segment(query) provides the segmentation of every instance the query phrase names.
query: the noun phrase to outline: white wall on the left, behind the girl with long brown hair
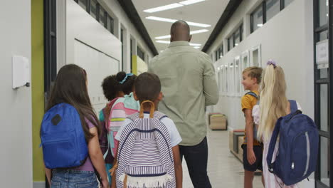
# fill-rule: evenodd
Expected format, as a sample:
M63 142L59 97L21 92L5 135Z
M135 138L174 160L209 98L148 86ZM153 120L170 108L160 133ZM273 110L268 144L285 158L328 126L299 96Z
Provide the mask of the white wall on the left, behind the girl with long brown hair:
M87 71L88 93L96 112L107 103L102 80L121 69L121 42L73 0L66 1L66 64Z

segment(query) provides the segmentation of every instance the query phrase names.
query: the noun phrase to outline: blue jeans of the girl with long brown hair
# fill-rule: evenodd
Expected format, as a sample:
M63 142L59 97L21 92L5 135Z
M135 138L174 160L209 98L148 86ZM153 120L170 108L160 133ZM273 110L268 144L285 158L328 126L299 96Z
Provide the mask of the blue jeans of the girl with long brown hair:
M53 169L51 188L98 188L95 172L76 169Z

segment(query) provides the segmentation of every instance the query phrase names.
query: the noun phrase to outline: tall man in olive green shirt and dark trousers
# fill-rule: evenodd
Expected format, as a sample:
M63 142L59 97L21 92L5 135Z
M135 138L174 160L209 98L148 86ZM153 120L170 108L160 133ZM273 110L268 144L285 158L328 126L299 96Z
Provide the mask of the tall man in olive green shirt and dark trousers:
M181 159L184 156L194 187L209 188L205 107L218 103L218 87L211 58L189 45L189 32L185 21L173 23L169 47L152 59L148 71L161 80L159 111L179 130Z

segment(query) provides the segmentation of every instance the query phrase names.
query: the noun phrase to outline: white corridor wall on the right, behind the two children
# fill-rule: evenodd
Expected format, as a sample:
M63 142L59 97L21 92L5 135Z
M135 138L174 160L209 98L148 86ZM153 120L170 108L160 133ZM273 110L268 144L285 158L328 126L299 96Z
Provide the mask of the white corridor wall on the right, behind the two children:
M214 53L221 46L224 38L228 38L233 30L244 19L248 24L249 16L258 5L258 1L243 1L230 21L226 24L208 53ZM287 96L297 100L305 114L314 117L314 71L313 71L313 14L312 1L294 0L292 4L280 11L266 22L262 28L253 33L245 32L245 39L214 65L217 68L234 61L243 51L261 45L261 59L265 63L269 59L277 61L285 71L287 80ZM249 25L248 25L249 26ZM244 28L246 30L246 28ZM226 48L227 43L224 43ZM245 127L244 115L240 109L240 97L220 96L215 111L228 115L231 128Z

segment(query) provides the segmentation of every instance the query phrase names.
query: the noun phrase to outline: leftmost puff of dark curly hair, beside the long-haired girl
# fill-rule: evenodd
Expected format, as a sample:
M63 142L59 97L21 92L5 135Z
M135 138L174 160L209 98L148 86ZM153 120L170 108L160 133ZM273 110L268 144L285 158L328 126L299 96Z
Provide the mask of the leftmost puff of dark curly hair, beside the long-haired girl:
M122 85L117 80L116 75L109 75L104 78L102 88L105 98L110 101L116 98L117 93L122 90Z

